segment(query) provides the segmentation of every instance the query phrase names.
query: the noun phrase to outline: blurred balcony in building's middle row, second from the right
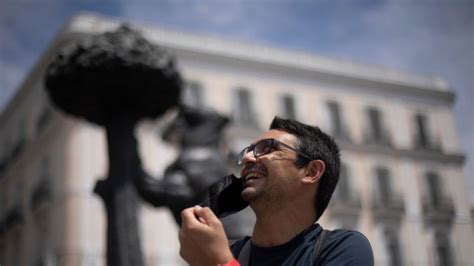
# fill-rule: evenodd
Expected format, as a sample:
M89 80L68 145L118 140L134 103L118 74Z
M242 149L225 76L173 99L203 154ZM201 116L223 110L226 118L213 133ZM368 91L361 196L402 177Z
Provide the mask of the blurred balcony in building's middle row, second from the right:
M375 197L372 201L372 212L376 220L399 222L405 213L405 204L399 194Z

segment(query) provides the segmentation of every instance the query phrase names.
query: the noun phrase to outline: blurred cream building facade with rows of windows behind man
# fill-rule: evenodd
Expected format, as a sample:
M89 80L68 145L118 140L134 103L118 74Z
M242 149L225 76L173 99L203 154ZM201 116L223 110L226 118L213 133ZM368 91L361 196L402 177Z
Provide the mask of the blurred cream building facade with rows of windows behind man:
M105 212L92 193L107 171L104 130L56 111L43 75L60 47L119 24L92 14L72 18L0 116L1 265L105 263ZM222 147L230 162L275 115L333 135L343 167L320 223L363 232L376 265L474 265L465 156L445 81L135 27L177 57L183 101L232 119ZM179 152L160 138L166 119L136 129L143 166L156 177ZM143 204L139 213L146 264L183 264L169 211Z

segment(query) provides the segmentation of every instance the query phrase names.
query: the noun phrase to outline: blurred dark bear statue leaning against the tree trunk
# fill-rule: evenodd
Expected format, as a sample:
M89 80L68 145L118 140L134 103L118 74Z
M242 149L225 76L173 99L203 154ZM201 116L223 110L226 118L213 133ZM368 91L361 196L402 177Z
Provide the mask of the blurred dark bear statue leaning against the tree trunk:
M163 133L165 140L179 144L180 153L161 178L153 178L144 172L136 176L135 185L142 198L155 207L169 208L178 224L181 224L184 208L215 202L217 198L209 199L212 197L210 186L220 183L229 173L226 157L219 147L228 121L227 117L209 108L181 106ZM240 179L236 183L234 193L224 193L220 198L223 201L220 203L235 212L248 205L241 198ZM214 211L221 217L219 211ZM250 233L248 220L245 213L223 219L227 236L239 239Z

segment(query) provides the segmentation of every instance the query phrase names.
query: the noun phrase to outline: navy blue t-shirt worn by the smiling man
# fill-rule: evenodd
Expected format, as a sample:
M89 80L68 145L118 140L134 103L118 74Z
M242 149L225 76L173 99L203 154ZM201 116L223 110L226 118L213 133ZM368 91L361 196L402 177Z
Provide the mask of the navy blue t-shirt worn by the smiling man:
M321 232L322 227L313 224L283 245L258 247L252 243L249 265L314 265L314 248ZM249 240L250 237L245 237L230 247L235 258ZM372 248L357 231L334 230L321 246L320 265L374 265Z

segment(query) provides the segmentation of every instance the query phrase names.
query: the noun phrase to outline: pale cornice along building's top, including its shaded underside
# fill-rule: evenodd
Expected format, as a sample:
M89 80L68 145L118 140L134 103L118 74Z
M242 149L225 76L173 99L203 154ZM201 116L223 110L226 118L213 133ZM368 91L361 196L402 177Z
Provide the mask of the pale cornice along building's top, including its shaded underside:
M101 33L115 29L122 21L92 13L73 17L66 33ZM177 32L156 26L137 25L151 42L178 56L224 60L226 64L260 67L272 72L338 83L351 87L408 93L452 104L455 95L445 80L437 76L416 75L381 66L367 65L316 56L304 52L263 45L222 40L215 37Z

